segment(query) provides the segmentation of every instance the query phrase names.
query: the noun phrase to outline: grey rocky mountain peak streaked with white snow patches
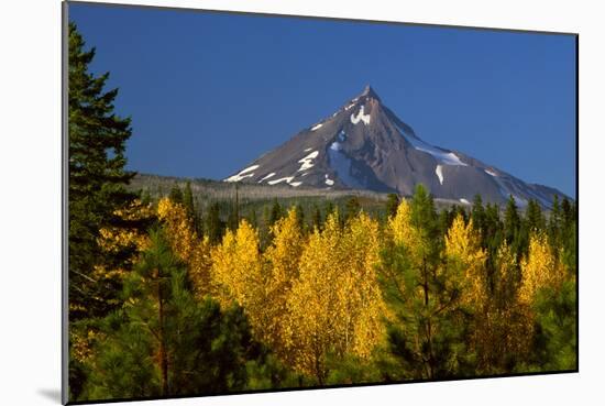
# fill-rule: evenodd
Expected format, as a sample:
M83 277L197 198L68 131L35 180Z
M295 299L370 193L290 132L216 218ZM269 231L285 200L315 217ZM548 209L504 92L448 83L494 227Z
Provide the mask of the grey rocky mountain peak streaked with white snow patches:
M292 187L351 188L409 196L424 184L436 198L550 207L561 191L527 184L458 151L422 141L367 86L332 116L300 131L224 179Z

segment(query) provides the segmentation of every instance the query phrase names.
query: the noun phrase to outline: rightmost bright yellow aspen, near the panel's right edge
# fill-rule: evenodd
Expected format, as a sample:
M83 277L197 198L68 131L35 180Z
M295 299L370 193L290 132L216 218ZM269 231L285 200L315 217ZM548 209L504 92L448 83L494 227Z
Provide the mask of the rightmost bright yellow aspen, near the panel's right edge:
M564 275L563 265L552 253L547 235L532 233L529 238L528 254L521 260L519 300L524 304L531 304L540 288L559 288Z

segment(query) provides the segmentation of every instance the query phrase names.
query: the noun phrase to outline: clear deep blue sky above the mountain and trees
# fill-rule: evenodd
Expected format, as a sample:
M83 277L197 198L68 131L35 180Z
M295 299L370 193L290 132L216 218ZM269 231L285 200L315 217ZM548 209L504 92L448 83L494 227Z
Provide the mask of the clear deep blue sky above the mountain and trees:
M223 178L370 84L425 141L575 197L575 39L72 3L129 168Z

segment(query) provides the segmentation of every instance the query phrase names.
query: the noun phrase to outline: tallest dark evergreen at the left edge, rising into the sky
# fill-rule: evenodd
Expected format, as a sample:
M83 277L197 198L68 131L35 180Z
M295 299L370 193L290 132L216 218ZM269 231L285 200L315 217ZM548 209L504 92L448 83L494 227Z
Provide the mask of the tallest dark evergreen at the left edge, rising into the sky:
M96 275L96 265L119 261L98 244L106 227L136 227L117 211L136 197L124 186L134 173L124 169L124 147L131 136L130 118L114 113L118 89L105 90L109 73L89 72L95 48L86 50L75 23L69 23L69 319L105 316L120 292L120 281ZM108 257L111 255L112 257Z

